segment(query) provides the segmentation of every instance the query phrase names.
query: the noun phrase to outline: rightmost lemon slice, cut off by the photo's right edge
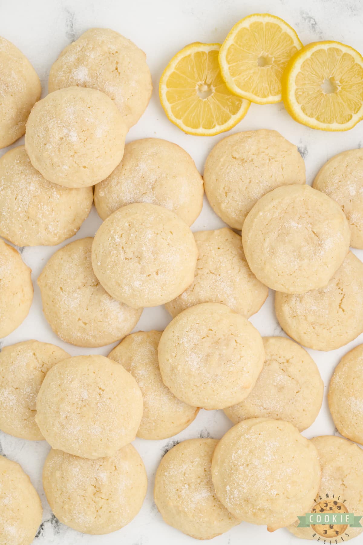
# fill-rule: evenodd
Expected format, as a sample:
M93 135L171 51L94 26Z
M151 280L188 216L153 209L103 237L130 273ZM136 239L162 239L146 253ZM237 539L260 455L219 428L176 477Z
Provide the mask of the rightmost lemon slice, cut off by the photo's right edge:
M312 129L346 131L363 119L363 57L338 41L307 45L282 76L285 108Z

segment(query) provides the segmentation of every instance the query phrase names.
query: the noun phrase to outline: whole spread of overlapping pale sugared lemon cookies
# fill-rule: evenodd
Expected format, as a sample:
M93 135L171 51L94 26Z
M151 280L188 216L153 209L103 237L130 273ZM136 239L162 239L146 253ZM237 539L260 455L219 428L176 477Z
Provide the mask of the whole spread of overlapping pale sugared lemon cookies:
M4 39L0 69L9 85L0 146L25 132L25 146L0 159L0 235L58 245L94 201L103 220L94 238L54 252L38 286L63 341L121 341L108 358L34 340L0 353L0 429L51 445L43 485L60 522L89 534L128 524L147 488L131 441L173 437L201 408L223 409L233 427L162 458L154 498L166 523L198 539L242 521L309 538L298 516L319 494L344 493L349 512L363 513L363 451L352 442L363 444L363 345L329 389L346 439L300 433L324 389L300 344L333 350L363 332L363 264L349 251L363 249L363 150L330 159L311 187L278 132L240 132L212 149L203 179L176 144L125 145L152 84L145 54L120 34L91 29L67 46L42 100L32 66ZM192 233L204 189L231 228ZM0 239L0 337L28 314L30 272ZM249 322L268 288L297 342L262 338ZM143 308L157 305L171 314L167 328L132 334ZM27 475L0 457L0 541L29 545L41 515Z

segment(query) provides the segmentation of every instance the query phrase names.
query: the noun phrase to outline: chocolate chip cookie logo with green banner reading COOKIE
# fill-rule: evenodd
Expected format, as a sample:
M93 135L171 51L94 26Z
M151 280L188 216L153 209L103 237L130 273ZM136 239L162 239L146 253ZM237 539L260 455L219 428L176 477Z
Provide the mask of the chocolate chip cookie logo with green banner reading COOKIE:
M314 532L311 537L317 541L321 541L321 537L323 537L324 543L336 544L344 541L343 534L346 537L349 536L347 534L349 527L362 527L360 524L362 515L357 516L354 513L349 513L345 501L341 496L335 498L334 494L330 498L329 494L325 494L325 498L319 496L311 513L298 517L300 520L298 528L311 526Z

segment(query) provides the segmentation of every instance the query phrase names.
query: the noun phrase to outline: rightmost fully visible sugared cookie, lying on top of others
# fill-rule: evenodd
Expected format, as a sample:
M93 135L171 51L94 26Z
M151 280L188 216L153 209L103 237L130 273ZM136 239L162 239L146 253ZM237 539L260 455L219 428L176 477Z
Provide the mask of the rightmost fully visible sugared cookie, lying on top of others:
M284 293L326 286L346 257L349 241L339 204L310 185L270 191L254 205L242 228L251 271Z

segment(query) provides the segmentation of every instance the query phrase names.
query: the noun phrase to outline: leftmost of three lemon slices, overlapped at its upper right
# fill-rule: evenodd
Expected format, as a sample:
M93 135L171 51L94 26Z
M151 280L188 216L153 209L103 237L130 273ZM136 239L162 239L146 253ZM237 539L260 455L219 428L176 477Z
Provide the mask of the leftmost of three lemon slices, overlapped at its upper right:
M212 136L234 127L250 103L233 95L218 64L220 44L187 45L170 60L159 83L172 123L190 135Z

